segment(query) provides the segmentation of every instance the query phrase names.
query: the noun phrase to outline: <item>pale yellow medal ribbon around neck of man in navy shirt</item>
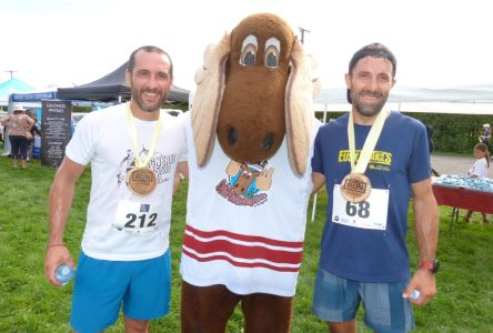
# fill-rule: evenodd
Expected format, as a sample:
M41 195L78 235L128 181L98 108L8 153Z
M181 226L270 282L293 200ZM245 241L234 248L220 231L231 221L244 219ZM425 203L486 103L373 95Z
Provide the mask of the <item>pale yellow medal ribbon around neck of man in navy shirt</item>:
M368 163L370 162L370 158L375 149L376 141L379 141L380 133L382 133L383 123L385 122L388 111L380 111L379 115L373 123L370 133L364 141L363 149L360 151L360 158L356 161L356 148L355 148L355 139L354 139L354 121L353 121L353 112L350 112L349 121L348 121L348 141L350 149L350 160L351 160L351 172L363 174L366 170Z

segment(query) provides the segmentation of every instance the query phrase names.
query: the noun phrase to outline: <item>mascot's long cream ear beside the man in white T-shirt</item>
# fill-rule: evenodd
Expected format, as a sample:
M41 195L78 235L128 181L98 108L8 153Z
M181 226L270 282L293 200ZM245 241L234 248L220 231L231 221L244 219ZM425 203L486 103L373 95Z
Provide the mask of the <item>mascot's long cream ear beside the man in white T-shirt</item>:
M203 67L195 73L198 84L191 110L197 163L205 165L215 141L219 108L224 93L224 71L230 53L230 36L227 33L217 46L209 46L203 54Z

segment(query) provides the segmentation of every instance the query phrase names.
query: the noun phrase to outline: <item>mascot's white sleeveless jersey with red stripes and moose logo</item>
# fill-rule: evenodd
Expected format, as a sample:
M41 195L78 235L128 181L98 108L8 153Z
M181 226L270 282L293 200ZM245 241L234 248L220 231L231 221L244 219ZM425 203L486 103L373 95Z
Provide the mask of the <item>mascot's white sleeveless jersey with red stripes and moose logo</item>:
M291 170L285 140L273 158L255 164L231 161L215 142L209 163L198 168L190 121L187 141L183 280L198 286L223 284L237 294L294 295L311 169L303 176Z

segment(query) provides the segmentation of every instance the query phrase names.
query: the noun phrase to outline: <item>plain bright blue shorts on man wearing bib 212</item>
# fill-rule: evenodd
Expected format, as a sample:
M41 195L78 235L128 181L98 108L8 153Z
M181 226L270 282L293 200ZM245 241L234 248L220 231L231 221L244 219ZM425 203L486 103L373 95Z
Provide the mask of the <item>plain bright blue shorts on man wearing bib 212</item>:
M70 323L80 333L112 325L123 314L135 320L170 312L171 255L141 261L108 261L79 256Z

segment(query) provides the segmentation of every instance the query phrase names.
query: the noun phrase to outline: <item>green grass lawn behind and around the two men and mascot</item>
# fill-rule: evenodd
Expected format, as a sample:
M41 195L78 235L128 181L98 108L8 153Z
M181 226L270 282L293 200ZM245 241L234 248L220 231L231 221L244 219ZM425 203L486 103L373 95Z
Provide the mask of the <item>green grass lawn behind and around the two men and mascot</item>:
M47 200L56 170L30 162L28 170L11 167L0 158L0 332L70 332L68 324L72 284L54 287L43 272L48 232ZM171 228L172 304L171 313L151 323L151 332L180 331L180 249L185 221L187 182L174 198ZM80 251L89 198L90 172L79 181L64 241L74 259ZM306 240L296 296L292 332L326 332L324 323L311 312L312 289L324 223L326 193L319 194L315 221L306 224ZM309 208L311 215L311 206ZM460 223L449 232L450 208L441 209L436 275L439 293L424 307L415 307L415 332L492 332L493 330L493 226L482 225L480 214L472 224ZM463 216L464 212L461 212ZM410 219L412 221L412 216ZM412 265L417 261L412 222L409 226ZM369 332L361 323L359 331ZM228 332L242 331L237 311ZM107 332L123 332L121 319Z

